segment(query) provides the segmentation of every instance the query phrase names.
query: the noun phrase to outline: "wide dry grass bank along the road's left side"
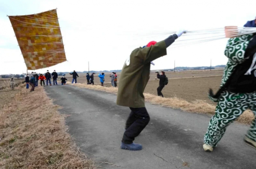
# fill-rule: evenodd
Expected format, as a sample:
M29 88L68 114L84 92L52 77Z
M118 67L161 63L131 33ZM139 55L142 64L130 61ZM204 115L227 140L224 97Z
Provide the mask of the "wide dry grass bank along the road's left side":
M94 168L71 141L65 117L43 87L29 92L23 84L0 91L0 98L0 169Z

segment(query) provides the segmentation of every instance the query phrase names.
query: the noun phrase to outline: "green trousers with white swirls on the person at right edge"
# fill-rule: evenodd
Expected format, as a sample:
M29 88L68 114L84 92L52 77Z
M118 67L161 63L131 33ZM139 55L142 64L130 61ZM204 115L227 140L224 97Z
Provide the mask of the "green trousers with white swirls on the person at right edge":
M208 131L204 136L204 143L217 146L226 131L226 127L234 122L246 109L251 109L256 115L256 92L221 94L216 106L215 115L210 120ZM256 119L253 120L247 137L256 141Z

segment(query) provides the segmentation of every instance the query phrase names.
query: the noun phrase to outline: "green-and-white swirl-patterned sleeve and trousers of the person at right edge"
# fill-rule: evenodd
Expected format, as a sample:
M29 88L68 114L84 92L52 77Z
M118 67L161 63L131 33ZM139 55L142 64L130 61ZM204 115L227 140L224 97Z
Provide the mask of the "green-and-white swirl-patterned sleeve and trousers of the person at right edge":
M225 55L229 58L226 64L220 87L224 86L239 64L246 59L244 53L253 35L243 35L240 37L230 38ZM256 92L252 93L232 93L224 91L220 98L215 99L209 96L212 101L218 102L215 115L211 118L208 131L204 136L204 143L210 146L217 146L217 143L224 136L226 127L235 121L246 109L251 109L256 115ZM256 141L256 119L253 120L247 137Z

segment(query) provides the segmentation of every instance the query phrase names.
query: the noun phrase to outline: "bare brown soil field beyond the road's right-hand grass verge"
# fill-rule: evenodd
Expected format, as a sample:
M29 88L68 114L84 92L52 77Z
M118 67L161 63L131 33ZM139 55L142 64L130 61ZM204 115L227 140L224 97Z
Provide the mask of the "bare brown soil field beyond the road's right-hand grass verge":
M166 72L169 83L164 87L162 93L164 97L178 97L186 101L204 100L210 104L215 104L208 99L209 88L214 92L219 89L223 70L194 70L183 72ZM86 74L79 74L78 83L87 83ZM120 76L120 73L117 74ZM69 82L72 82L72 76L66 76ZM145 92L157 95L156 88L159 86L158 79L155 80L156 73L150 73ZM99 84L98 74L94 75L94 84ZM105 74L105 87L111 87L109 74Z

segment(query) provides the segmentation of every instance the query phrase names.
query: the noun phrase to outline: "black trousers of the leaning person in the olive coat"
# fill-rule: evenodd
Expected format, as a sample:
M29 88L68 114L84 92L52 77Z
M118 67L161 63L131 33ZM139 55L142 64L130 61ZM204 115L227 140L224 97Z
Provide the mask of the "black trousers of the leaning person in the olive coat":
M133 143L141 131L149 123L150 117L146 108L130 108L131 113L125 124L125 132L122 142L125 144Z

